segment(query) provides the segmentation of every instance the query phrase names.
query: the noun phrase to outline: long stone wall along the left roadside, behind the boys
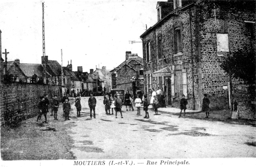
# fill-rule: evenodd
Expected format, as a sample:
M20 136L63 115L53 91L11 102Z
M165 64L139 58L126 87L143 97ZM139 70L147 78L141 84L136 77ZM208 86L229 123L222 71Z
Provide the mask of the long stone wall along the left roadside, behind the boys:
M40 96L49 95L51 102L54 94L62 98L61 86L13 82L0 85L1 126L12 125L34 117L38 113Z

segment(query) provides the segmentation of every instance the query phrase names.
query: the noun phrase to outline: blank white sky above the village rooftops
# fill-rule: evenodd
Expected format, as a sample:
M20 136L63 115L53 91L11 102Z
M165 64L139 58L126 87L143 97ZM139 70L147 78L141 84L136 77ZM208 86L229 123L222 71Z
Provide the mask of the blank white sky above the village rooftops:
M167 1L167 0L163 0ZM7 61L41 63L43 56L42 2L45 55L73 71L112 70L125 60L125 51L142 57L140 35L157 22L157 0L1 0L2 52ZM138 43L129 43L136 41ZM4 58L4 55L2 54Z

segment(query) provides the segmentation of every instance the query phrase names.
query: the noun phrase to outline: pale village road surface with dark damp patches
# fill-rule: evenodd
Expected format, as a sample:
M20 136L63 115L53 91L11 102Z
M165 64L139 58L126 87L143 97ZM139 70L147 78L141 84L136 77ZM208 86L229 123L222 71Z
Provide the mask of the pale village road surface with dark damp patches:
M88 97L82 97L82 113L76 118L71 106L73 123L68 133L74 140L71 151L76 159L160 159L256 157L255 127L223 122L178 118L177 115L149 111L145 119L137 111L106 115L103 97L96 97L96 118L90 119ZM72 100L71 100L72 101Z

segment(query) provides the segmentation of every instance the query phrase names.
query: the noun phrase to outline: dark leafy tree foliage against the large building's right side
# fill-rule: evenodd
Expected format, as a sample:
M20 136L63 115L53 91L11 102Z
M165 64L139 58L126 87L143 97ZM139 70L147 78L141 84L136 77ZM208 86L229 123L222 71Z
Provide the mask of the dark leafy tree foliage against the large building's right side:
M256 60L255 52L247 48L238 49L224 61L220 67L235 78L241 78L245 83L254 85L256 81Z

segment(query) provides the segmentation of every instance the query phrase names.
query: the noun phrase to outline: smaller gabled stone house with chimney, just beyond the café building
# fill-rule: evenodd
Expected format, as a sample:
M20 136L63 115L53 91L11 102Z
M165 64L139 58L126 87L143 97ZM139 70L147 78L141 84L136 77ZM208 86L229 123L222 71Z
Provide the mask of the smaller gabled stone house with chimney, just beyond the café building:
M131 51L125 52L125 61L110 71L112 73L112 88L129 90L136 94L137 90L144 92L143 58ZM135 79L133 86L132 79ZM134 87L134 89L133 89Z

